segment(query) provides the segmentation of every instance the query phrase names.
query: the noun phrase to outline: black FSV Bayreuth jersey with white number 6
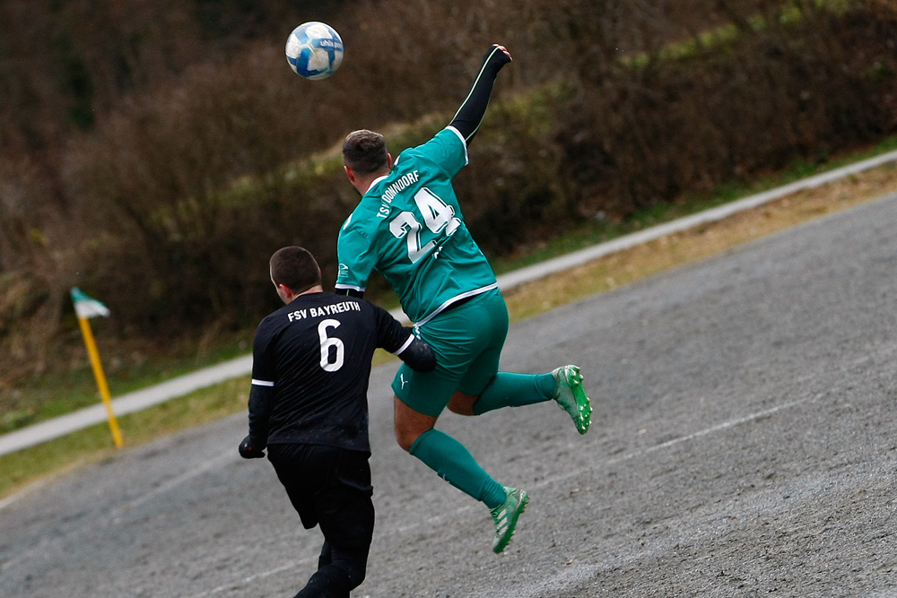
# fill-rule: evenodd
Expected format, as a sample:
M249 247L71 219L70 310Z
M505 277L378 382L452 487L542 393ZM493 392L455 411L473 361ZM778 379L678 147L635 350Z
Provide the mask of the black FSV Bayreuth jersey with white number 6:
M377 347L400 353L414 340L385 309L330 292L300 295L267 316L252 362L253 386L273 391L267 443L370 452L371 357Z

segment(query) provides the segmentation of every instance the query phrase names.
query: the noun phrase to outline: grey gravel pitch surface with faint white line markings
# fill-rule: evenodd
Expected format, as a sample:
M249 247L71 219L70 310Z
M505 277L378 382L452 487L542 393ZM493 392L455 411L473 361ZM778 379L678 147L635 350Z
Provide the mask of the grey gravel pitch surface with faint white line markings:
M587 374L552 404L440 429L532 500L484 507L392 439L371 380L377 530L355 596L897 596L897 195L514 325L502 367ZM234 416L0 507L0 595L290 596L315 567Z

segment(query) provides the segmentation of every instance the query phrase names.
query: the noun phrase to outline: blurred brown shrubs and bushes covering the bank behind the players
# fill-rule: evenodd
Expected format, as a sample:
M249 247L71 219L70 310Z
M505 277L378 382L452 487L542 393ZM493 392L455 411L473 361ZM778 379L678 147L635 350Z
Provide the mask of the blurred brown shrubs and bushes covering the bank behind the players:
M492 255L584 213L625 217L823 160L897 122L885 0L797 0L788 22L780 0L334 1L347 49L327 82L290 72L283 41L312 17L274 0L30 6L0 4L21 25L0 36L0 116L15 123L0 136L9 369L56 346L70 286L109 304L112 332L158 339L255 323L275 307L278 247L309 247L332 281L355 197L338 163L309 157L355 128L450 115L492 42L515 56L496 88L509 101L493 101L457 178ZM702 41L727 25L737 35ZM64 61L22 50L41 36ZM447 119L390 134L390 151Z

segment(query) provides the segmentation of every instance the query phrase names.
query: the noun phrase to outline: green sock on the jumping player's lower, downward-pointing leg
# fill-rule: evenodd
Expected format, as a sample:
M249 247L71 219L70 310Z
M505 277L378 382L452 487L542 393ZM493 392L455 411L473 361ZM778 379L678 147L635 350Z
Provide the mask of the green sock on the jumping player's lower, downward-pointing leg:
M438 429L428 429L408 451L449 484L495 508L506 500L504 487L492 480L464 445Z

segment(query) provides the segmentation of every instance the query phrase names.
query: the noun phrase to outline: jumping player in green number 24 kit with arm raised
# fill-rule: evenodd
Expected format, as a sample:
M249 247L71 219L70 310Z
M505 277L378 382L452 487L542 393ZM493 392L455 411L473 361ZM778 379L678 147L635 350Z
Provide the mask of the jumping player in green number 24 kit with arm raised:
M452 178L467 163L467 144L483 120L492 83L510 61L504 47L489 48L449 126L402 152L395 163L382 135L361 130L346 137L345 172L361 202L340 230L335 285L337 293L360 297L370 273L382 273L436 352L434 371L422 374L403 365L396 373L396 440L489 507L495 552L510 542L527 492L494 481L463 445L435 429L440 413L448 406L452 412L479 415L554 400L585 434L592 412L576 366L540 375L498 371L508 308L452 187Z

